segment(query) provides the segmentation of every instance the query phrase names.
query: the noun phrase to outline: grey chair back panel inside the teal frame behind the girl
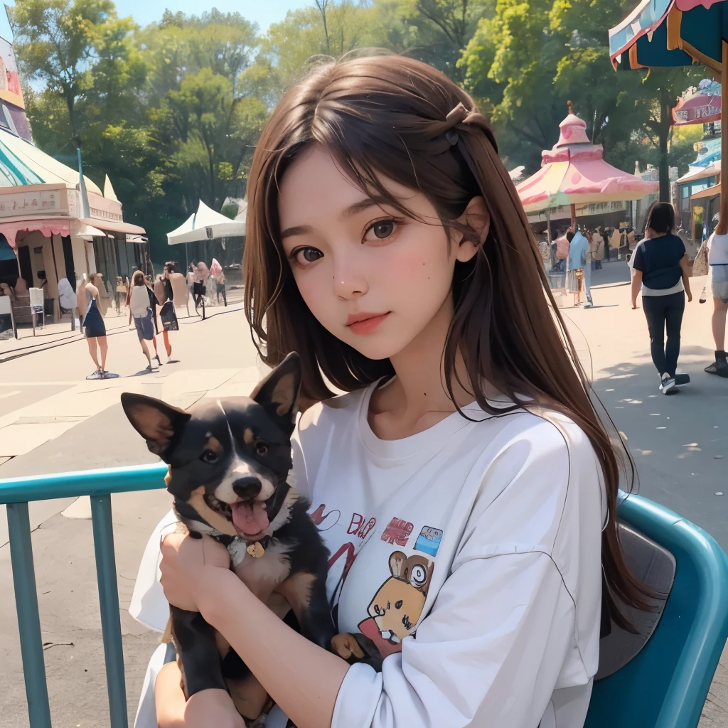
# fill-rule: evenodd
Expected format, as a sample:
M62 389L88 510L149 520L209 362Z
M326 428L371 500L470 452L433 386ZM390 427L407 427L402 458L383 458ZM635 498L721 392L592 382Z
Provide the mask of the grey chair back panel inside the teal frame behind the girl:
M599 670L596 680L616 673L647 644L660 622L675 579L675 557L668 550L625 523L620 523L618 528L625 561L632 573L663 596L652 600L654 612L641 612L622 606L622 614L635 625L637 633L630 634L612 621L611 632L599 642Z

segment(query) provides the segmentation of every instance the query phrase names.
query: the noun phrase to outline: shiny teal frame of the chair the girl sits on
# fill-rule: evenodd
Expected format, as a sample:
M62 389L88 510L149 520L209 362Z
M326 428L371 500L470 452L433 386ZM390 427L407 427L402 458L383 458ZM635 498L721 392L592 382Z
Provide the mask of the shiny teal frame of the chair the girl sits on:
M728 557L703 529L645 498L628 496L618 513L674 557L674 582L644 647L595 681L585 728L696 728L728 639Z

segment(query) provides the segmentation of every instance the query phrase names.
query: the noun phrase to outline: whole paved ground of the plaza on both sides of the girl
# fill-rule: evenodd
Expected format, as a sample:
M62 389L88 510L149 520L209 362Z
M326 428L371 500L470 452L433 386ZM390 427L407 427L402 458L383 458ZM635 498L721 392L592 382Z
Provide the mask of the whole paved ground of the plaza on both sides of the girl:
M636 460L639 492L703 526L728 549L728 382L703 373L712 355L711 304L697 303L703 281L693 282L695 300L683 327L681 366L692 384L664 397L649 360L644 312L629 306L626 274L625 264L605 265L594 276L596 306L562 309L571 336L592 373L596 395ZM156 393L183 406L207 392L249 391L258 369L242 312L232 306L213 313L217 315L205 322L181 321L181 331L173 335L173 357L179 363L151 376L137 376L145 362L131 331L109 339L108 367L122 375L116 380L85 381L92 366L84 341L0 363L0 478L154 462L124 419L118 404L124 390ZM725 496L717 495L723 491ZM131 715L158 636L137 625L126 607L146 539L168 504L163 491L114 497ZM54 726L63 728L108 726L87 516L82 500L31 506L43 638L50 643L45 657L52 713ZM5 526L0 514L0 728L25 728ZM721 665L701 728L728 727L727 683Z

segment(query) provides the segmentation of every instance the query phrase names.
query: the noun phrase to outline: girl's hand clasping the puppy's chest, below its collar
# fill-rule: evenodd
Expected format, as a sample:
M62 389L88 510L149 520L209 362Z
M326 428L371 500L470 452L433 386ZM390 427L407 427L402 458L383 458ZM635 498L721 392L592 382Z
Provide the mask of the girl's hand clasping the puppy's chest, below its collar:
M162 588L167 601L180 609L201 612L200 602L214 597L218 584L231 574L227 549L209 536L170 534L159 549Z

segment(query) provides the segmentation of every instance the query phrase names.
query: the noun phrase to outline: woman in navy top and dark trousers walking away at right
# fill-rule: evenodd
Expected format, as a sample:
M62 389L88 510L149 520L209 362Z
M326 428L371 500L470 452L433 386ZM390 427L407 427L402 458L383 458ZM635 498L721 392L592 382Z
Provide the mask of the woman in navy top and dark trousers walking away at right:
M688 384L687 374L676 375L685 294L692 301L685 245L675 229L675 210L669 202L654 202L647 210L645 234L630 258L632 308L642 287L642 307L649 328L652 362L660 374L660 392L672 395L676 385ZM668 341L665 344L665 329Z

